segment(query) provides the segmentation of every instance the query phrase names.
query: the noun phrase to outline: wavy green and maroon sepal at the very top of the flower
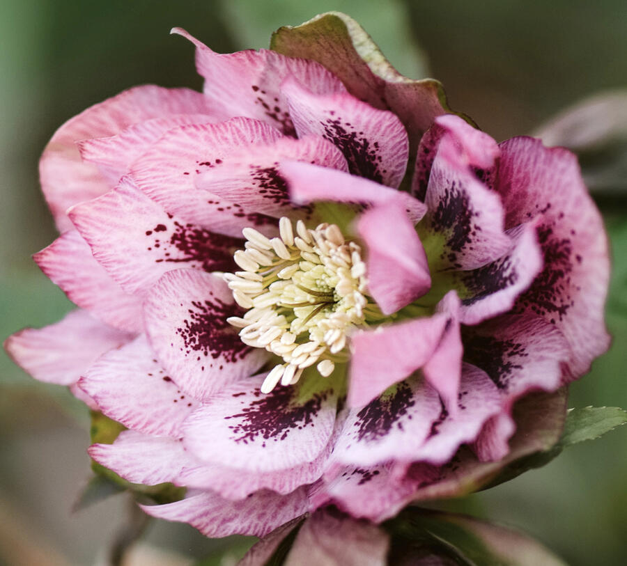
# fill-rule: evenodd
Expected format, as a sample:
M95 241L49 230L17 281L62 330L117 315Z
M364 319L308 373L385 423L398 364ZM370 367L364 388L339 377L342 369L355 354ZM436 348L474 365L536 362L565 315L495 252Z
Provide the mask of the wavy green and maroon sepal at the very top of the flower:
M439 81L403 77L362 26L346 14L329 12L300 26L281 27L272 34L270 49L318 61L355 97L375 108L392 110L407 129L411 156L435 116L451 112ZM472 123L467 116L463 118Z

